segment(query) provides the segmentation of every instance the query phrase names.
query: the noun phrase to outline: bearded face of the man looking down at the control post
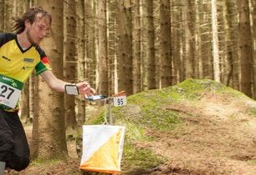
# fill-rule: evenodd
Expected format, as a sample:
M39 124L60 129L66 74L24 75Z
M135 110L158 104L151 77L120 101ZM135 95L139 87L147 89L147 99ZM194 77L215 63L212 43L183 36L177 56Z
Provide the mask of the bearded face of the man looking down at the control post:
M26 34L28 42L33 45L39 45L39 43L49 34L50 22L49 18L44 18L41 14L38 14L34 23L26 23Z

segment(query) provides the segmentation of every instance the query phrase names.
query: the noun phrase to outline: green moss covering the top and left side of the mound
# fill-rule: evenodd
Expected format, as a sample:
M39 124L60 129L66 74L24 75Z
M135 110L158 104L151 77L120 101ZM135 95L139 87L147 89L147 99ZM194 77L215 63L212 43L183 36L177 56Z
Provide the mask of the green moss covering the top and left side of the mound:
M164 133L177 128L182 123L179 113L166 110L166 107L181 101L197 101L208 92L248 98L222 83L209 79L187 79L175 86L136 93L127 97L125 107L113 107L115 125L126 128L122 162L124 171L133 174L135 169L143 172L164 163L163 156L156 155L150 148L140 147L138 143L156 139L153 136L150 137L147 134L148 131ZM92 124L104 122L104 109ZM254 116L256 116L255 111L256 109L252 110Z

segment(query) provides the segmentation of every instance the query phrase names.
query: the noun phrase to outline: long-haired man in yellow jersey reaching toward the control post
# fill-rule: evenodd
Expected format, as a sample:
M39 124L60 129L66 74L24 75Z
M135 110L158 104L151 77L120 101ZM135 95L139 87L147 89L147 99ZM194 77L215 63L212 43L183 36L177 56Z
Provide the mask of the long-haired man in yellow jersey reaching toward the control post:
M50 29L49 13L32 7L15 22L15 33L0 33L0 175L5 168L21 171L29 164L28 141L17 103L34 69L57 92L84 96L95 93L88 82L64 82L51 71L48 57L38 46Z

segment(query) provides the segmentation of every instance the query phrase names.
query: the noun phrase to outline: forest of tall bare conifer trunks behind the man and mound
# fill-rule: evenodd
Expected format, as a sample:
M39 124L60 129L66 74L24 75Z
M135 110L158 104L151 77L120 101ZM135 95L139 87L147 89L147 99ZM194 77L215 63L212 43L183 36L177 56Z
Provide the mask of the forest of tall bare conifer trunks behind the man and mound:
M33 6L52 14L40 47L67 82L130 96L207 78L256 99L256 0L0 0L0 32ZM31 76L20 111L33 121L32 158L66 158L66 131L86 122L86 105Z

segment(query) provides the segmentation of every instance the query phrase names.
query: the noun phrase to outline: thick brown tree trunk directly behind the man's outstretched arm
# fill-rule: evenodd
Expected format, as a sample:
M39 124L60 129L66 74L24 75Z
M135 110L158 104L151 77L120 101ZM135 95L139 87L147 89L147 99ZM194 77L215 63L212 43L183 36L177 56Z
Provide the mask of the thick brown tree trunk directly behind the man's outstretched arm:
M38 5L49 11L53 17L49 37L44 38L41 47L48 55L56 77L63 79L63 3L40 1ZM61 30L59 30L61 29ZM33 158L49 160L67 158L67 144L64 127L64 94L53 92L43 78L38 81L38 117L34 118Z

